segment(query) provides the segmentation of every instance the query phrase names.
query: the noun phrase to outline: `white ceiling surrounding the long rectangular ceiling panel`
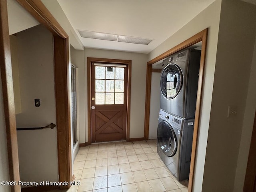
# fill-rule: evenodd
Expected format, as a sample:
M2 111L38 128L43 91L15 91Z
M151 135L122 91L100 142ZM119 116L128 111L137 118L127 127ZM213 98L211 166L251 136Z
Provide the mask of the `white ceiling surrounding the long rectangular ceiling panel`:
M84 47L149 53L214 0L58 0L75 30L153 39L148 45L81 38Z

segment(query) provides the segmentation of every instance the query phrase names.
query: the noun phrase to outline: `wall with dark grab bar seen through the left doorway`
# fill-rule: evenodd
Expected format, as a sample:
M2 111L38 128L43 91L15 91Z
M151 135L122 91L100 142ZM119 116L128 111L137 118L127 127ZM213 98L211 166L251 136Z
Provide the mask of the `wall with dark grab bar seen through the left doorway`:
M53 37L43 26L16 34L22 113L16 115L18 128L56 124ZM39 98L40 107L34 99ZM20 180L58 181L56 127L18 131Z

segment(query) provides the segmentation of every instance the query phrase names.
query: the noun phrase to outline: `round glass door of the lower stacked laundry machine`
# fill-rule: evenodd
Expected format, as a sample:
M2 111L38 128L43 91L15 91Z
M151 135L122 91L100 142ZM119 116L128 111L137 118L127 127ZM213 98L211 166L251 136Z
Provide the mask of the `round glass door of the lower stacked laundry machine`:
M175 132L166 121L161 121L157 127L158 146L166 156L174 156L177 151L177 139Z

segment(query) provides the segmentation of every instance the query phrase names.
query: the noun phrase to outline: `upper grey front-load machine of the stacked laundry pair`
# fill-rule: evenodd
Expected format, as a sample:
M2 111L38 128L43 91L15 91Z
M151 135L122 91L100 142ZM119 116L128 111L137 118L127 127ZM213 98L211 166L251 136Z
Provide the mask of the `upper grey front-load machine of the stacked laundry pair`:
M182 118L194 118L200 50L187 49L162 62L160 109Z

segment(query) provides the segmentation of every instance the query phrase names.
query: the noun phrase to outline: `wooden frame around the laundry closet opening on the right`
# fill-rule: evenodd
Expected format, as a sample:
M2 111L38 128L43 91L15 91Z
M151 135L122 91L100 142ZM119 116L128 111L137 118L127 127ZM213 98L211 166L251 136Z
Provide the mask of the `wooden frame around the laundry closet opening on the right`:
M196 158L196 145L197 145L197 136L198 136L198 124L200 120L200 107L201 107L201 96L202 96L202 85L204 78L204 65L206 57L206 43L207 43L207 32L208 28L202 30L201 32L195 34L184 42L178 44L174 48L164 52L163 54L157 56L156 58L147 62L147 73L146 73L146 104L145 104L145 119L144 119L144 140L148 140L149 133L149 116L150 116L150 94L151 94L151 77L152 77L152 64L178 52L184 48L188 48L198 42L202 41L202 51L201 51L201 60L200 60L200 69L199 69L199 78L198 78L198 90L196 98L196 114L194 122L194 133L193 133L193 143L192 143L192 153L191 153L191 163L190 163L190 176L188 183L188 192L192 192L192 185L194 180L194 166Z

